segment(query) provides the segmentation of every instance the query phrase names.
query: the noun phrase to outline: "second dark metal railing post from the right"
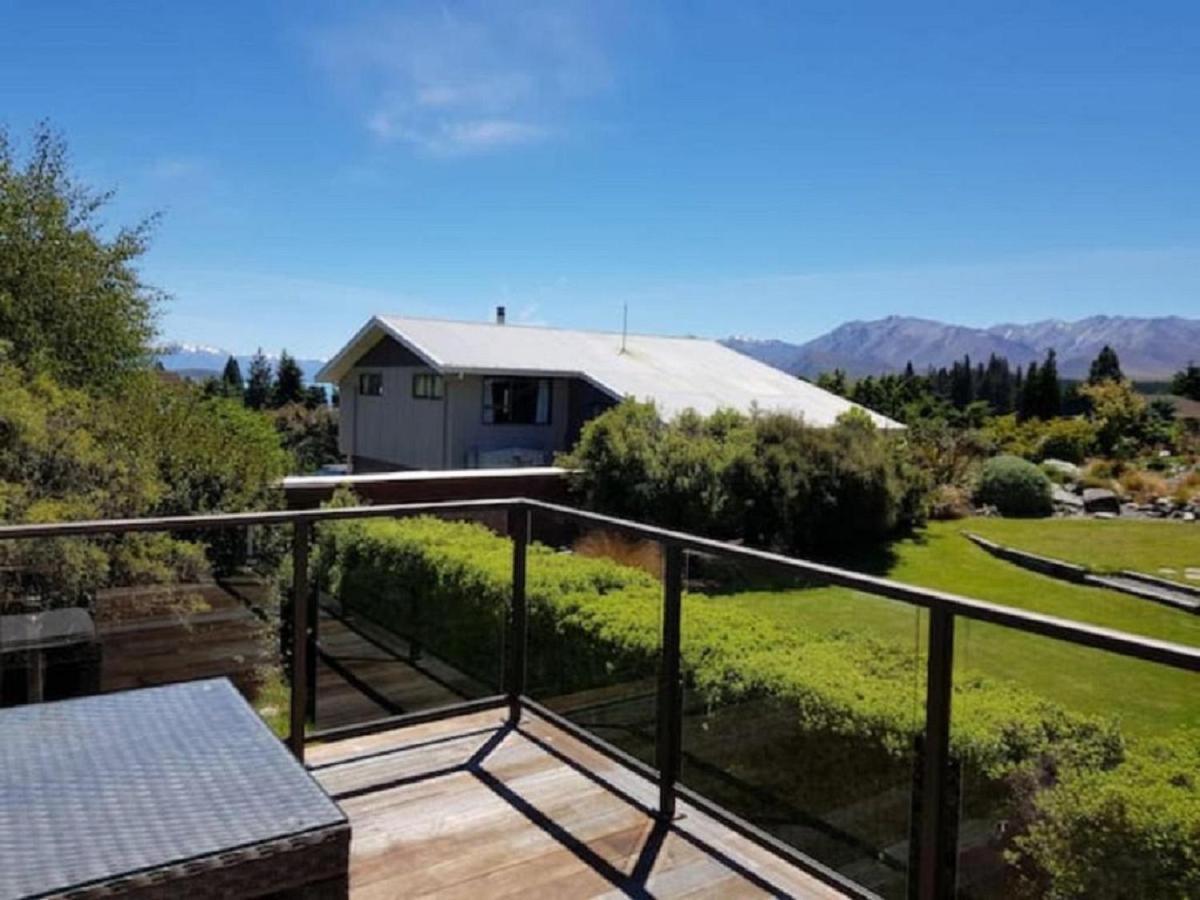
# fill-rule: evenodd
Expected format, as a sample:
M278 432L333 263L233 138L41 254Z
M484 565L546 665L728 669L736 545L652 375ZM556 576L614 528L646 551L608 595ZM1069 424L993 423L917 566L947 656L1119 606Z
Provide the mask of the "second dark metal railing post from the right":
M659 769L659 816L674 817L676 781L683 760L683 682L680 679L680 623L683 619L683 551L662 545L662 650L659 661L659 733L655 746Z

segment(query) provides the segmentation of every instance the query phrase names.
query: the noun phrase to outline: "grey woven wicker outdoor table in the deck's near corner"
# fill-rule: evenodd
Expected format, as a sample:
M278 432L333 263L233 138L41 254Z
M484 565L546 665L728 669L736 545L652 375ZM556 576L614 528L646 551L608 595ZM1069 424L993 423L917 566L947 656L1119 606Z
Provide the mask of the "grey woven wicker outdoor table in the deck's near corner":
M350 827L227 679L0 709L0 899L344 898Z

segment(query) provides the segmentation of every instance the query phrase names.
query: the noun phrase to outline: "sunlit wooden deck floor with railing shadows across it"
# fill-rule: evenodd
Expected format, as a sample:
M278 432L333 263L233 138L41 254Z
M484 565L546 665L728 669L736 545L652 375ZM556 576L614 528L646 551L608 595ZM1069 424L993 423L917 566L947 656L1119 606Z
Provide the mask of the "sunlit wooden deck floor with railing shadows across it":
M841 896L526 713L462 715L311 744L307 762L353 827L350 893L438 896Z

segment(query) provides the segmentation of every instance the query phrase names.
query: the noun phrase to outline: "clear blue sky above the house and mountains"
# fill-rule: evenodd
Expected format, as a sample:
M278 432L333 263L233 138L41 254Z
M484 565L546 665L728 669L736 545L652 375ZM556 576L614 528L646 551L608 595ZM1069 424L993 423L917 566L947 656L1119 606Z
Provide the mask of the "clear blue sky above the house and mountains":
M1200 6L0 0L164 337L1200 316Z

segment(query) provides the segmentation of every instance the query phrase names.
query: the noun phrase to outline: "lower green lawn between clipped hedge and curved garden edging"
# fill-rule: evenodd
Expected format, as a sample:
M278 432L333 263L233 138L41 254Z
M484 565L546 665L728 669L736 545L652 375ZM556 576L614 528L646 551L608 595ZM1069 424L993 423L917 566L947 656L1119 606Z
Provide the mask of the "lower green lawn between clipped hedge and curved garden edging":
M1037 524L1050 529L1067 523ZM1133 523L1117 527L1128 524ZM886 574L982 600L1200 646L1200 617L1027 572L995 559L959 533L976 526L978 522L930 524L918 538L893 546L894 558L884 566ZM841 588L739 593L721 602L809 630L865 630L914 652L918 641L924 642L925 622L918 626L912 607ZM1200 677L1192 673L978 622L960 622L955 655L960 667L1014 680L1082 712L1118 715L1132 733L1200 726Z

